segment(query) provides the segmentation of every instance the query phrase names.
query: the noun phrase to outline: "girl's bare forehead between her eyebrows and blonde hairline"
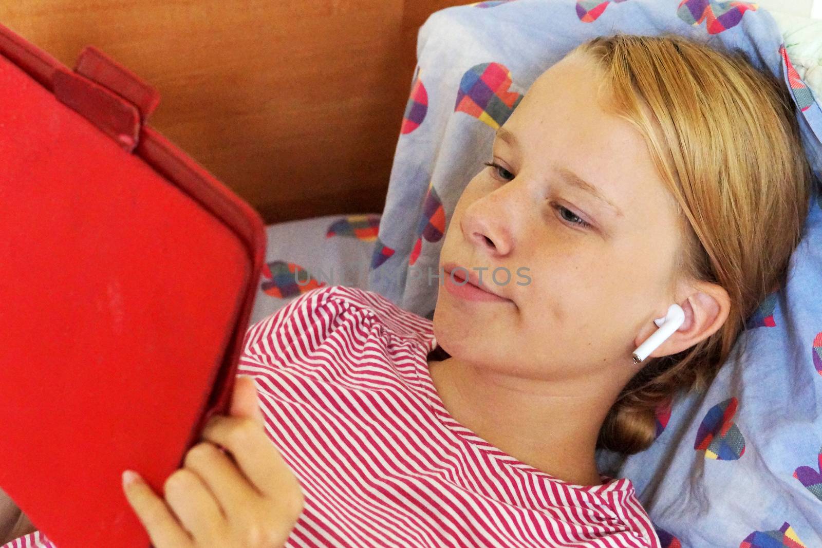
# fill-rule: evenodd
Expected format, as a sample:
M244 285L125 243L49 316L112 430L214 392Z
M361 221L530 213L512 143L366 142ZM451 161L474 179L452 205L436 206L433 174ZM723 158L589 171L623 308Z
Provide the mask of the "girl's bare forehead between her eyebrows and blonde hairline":
M519 140L522 168L568 168L598 187L626 213L675 202L648 144L630 122L603 107L611 100L603 74L589 58L570 56L544 71L503 127Z

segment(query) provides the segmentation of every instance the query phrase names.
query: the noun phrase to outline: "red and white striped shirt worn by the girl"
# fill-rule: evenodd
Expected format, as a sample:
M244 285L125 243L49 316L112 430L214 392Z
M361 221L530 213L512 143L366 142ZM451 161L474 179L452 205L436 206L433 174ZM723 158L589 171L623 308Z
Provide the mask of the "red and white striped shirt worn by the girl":
M432 321L376 292L312 289L243 345L238 375L305 495L288 548L660 547L630 480L561 481L450 417ZM24 546L53 547L35 532L2 548Z

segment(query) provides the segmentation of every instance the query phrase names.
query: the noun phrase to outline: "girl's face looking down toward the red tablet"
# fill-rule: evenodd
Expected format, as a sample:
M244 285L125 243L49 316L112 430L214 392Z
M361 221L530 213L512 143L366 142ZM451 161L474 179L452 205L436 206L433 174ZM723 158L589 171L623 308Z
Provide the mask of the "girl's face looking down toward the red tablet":
M544 72L497 131L497 165L460 196L445 283L451 265L482 271L504 299L440 285L433 327L452 357L535 379L624 369L640 331L677 302L676 202L641 134L600 108L600 78L580 56Z

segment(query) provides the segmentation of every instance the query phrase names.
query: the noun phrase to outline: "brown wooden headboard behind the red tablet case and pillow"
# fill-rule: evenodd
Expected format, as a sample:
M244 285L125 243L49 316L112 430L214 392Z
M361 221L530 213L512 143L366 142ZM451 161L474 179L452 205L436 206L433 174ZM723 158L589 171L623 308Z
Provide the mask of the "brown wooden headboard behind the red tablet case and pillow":
M417 31L455 0L38 0L0 23L68 67L95 45L159 90L150 125L266 223L379 213Z

